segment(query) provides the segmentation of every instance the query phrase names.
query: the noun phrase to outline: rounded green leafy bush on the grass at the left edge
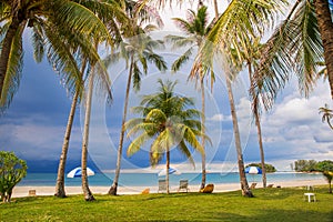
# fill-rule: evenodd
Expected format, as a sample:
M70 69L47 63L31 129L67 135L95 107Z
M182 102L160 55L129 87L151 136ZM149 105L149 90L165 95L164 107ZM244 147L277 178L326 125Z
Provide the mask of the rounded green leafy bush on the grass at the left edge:
M10 202L16 184L27 174L27 163L13 152L0 151L0 196L2 202Z

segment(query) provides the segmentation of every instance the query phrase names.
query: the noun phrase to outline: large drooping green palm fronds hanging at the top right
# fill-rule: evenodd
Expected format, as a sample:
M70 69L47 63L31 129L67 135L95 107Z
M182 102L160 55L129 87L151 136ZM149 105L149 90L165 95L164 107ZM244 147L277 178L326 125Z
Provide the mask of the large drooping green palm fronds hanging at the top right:
M251 91L261 93L265 109L270 109L291 74L299 78L299 87L307 95L315 80L319 61L323 60L315 11L309 1L301 1L264 44Z

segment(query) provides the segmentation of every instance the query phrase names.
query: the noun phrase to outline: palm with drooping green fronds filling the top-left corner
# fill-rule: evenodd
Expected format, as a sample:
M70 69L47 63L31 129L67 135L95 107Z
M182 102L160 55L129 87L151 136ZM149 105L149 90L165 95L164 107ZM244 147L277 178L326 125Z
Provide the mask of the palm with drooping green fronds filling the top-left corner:
M63 75L68 87L82 88L80 70L72 57L79 48L90 61L98 60L87 36L108 32L103 23L83 6L88 1L3 0L0 3L0 109L10 104L19 88L22 70L22 34L32 31L34 58L48 59ZM83 36L82 36L83 34ZM85 38L84 38L85 37ZM111 39L108 37L109 40ZM90 47L89 47L90 46ZM72 49L72 50L69 50ZM89 50L88 50L89 49Z

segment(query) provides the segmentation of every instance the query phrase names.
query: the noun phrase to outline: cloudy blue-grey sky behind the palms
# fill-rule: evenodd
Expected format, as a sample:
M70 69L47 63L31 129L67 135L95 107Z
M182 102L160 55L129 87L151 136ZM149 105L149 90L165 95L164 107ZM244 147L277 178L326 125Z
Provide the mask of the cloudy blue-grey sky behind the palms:
M223 6L220 6L223 8ZM183 11L162 12L163 17L172 18L184 16ZM155 32L157 37L168 33L179 33L170 20L165 21L163 31ZM71 95L61 85L60 78L52 67L44 60L36 63L32 58L29 33L24 33L24 67L18 93L14 95L6 114L0 117L0 150L14 151L27 160L31 172L57 172L61 153L63 134L71 105ZM182 50L167 47L159 54L165 58L171 65ZM193 60L194 58L191 58ZM89 164L101 170L114 170L117 148L120 134L125 81L128 70L120 62L109 68L112 80L113 102L105 103L101 92L93 98L92 118L89 141ZM190 64L182 67L180 72L164 73L150 67L148 74L142 79L141 90L131 91L130 105L138 105L143 94L154 93L158 88L157 80L178 80L175 92L191 97L195 108L201 109L200 91L195 82L188 81ZM223 69L216 65L220 73L213 91L209 87L206 94L206 129L212 145L206 148L208 170L224 172L236 170L236 153L234 148L232 122L229 100L224 83ZM249 100L248 73L241 72L233 84L241 140L245 163L260 162L256 128L251 117L251 102ZM319 108L327 103L333 107L330 99L329 83L319 80L314 91L307 99L302 97L297 82L291 82L281 91L272 110L262 114L262 133L265 151L265 161L280 171L291 170L291 163L300 159L314 159L316 161L333 159L332 130L322 123ZM82 145L82 125L84 107L78 105L72 137L70 141L68 167L80 165ZM135 117L130 112L129 118ZM149 147L132 157L127 157L125 150L130 141L124 142L122 167L124 169L149 169ZM184 170L200 171L200 155L192 151L196 162L195 169L188 164L175 149L171 153L171 162Z

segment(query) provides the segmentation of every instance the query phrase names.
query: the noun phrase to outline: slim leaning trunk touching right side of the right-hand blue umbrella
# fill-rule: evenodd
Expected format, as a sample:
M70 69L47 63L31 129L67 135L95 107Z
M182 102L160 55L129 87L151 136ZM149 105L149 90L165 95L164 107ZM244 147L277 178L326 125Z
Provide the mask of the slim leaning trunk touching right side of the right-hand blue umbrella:
M249 68L250 84L253 85L251 62L248 62L248 68ZM255 119L258 143L259 143L260 159L261 159L262 185L263 185L263 188L266 188L268 180L266 180L266 169L265 169L265 154L264 154L263 144L262 144L261 124L260 124L260 117L259 117L259 110L258 110L259 101L258 101L258 97L255 97L254 94L252 94L252 102L253 102L253 114L254 114L254 119Z

